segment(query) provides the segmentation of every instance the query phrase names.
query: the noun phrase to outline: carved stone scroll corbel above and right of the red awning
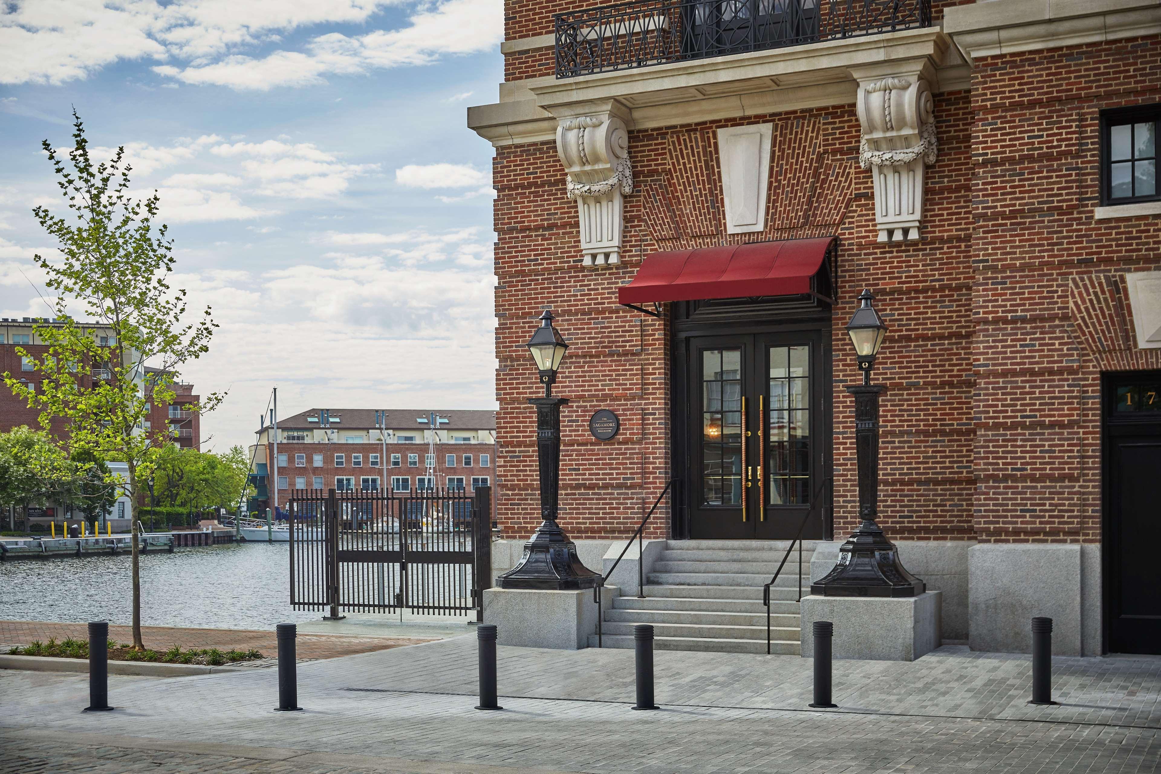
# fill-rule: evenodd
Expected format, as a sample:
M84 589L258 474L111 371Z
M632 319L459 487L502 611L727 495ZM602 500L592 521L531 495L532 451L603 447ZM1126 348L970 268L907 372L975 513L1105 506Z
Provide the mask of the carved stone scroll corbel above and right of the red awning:
M863 138L859 164L874 180L879 241L917 240L923 220L923 178L938 153L931 88L922 68L852 72Z

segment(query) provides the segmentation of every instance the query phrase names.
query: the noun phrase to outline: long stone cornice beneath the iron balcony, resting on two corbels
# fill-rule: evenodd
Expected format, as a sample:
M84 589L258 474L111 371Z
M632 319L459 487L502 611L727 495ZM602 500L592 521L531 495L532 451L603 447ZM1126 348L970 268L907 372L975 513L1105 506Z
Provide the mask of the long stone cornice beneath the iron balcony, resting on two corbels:
M492 145L554 139L557 118L592 106L623 106L630 129L851 104L861 73L901 64L923 71L933 91L969 87L969 71L935 28L678 62L582 78L505 84L512 97L468 108L468 126Z

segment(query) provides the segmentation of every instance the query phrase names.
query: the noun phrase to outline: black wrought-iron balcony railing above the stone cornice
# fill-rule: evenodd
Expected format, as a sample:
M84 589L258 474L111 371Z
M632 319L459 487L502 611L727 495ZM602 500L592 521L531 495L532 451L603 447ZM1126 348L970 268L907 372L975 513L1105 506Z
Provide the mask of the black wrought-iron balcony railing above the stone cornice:
M931 0L634 0L553 16L556 77L931 26Z

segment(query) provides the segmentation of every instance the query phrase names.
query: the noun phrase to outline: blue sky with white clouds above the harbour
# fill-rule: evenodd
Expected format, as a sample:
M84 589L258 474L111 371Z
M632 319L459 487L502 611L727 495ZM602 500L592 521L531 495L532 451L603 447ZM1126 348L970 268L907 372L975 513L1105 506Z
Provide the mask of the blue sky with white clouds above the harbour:
M491 147L500 0L0 2L0 317L43 316L70 110L161 195L178 287L221 324L183 374L203 436L323 407L495 405ZM43 285L41 285L43 291Z

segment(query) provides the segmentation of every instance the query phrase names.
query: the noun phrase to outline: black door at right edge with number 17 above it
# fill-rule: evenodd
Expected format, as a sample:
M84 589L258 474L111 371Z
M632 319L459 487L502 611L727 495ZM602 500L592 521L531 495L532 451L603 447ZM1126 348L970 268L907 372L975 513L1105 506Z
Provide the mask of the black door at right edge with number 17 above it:
M1108 649L1161 654L1161 371L1105 379Z

